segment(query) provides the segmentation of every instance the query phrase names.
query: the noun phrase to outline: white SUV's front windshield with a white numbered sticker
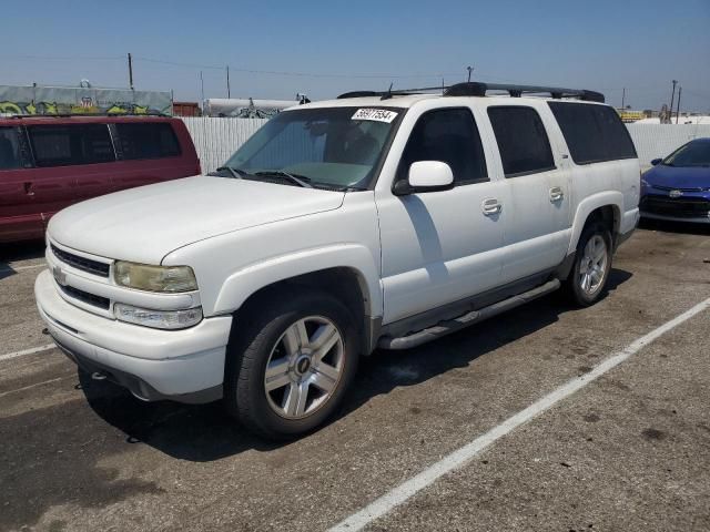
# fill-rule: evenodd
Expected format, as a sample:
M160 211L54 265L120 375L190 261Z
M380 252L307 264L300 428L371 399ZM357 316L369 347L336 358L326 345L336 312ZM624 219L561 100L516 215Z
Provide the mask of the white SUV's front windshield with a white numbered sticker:
M314 187L366 188L404 115L395 108L285 111L268 121L224 166L242 177Z

